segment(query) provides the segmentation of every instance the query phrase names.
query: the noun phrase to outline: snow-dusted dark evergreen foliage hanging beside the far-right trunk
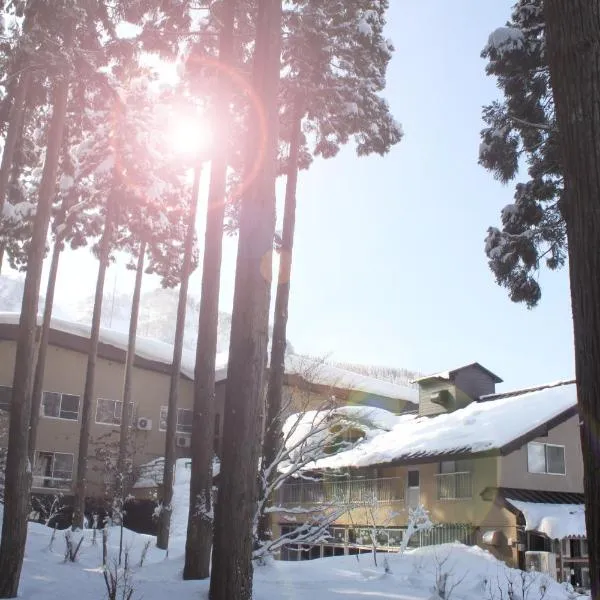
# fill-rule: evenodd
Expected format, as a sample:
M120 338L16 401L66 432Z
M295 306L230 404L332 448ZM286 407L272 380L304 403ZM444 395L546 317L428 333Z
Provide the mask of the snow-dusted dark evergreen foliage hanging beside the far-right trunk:
M483 109L479 162L503 183L527 167L527 180L515 185L513 202L502 209L502 227L488 229L485 252L510 298L532 307L541 297L541 266L558 269L567 255L542 0L519 0L506 26L489 36L482 56L504 97Z

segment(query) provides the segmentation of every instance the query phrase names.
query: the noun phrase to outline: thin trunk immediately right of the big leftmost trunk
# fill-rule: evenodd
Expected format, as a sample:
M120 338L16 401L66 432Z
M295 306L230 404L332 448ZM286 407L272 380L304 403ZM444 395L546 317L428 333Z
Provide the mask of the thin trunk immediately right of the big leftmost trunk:
M33 392L31 394L31 418L29 419L29 460L31 461L31 464L33 464L34 460L37 430L40 421L40 407L42 405L44 374L46 371L46 356L48 353L48 340L50 338L52 307L54 305L54 290L56 288L56 276L58 274L58 264L62 250L62 240L57 239L54 243L54 248L52 249L50 273L48 274L48 285L46 287L46 303L44 304L42 333L38 346L37 360L35 363L35 376L33 378Z

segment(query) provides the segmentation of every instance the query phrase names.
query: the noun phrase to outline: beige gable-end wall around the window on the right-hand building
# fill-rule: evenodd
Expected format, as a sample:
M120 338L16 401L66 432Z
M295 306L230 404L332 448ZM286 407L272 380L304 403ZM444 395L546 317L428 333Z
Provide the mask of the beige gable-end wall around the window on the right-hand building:
M548 432L546 437L534 440L542 444L565 446L566 475L529 473L527 444L499 459L499 485L502 487L583 493L583 460L579 437L579 417L571 417Z

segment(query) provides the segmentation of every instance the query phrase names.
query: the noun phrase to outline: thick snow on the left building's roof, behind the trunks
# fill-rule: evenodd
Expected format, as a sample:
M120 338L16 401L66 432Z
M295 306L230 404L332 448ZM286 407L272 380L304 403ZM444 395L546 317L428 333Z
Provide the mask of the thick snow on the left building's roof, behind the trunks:
M38 323L41 324L42 318L38 316ZM0 312L0 323L7 325L18 325L18 313ZM82 323L74 323L63 319L52 318L51 328L55 331L61 331L80 338L88 339L90 337L90 326ZM121 331L100 329L100 342L113 348L127 351L128 335ZM173 363L173 346L159 340L144 338L138 336L135 342L135 354L140 358L171 365ZM183 350L181 358L181 373L190 379L194 378L194 367L196 356L190 350ZM227 378L227 355L218 354L215 371L215 381L223 381Z

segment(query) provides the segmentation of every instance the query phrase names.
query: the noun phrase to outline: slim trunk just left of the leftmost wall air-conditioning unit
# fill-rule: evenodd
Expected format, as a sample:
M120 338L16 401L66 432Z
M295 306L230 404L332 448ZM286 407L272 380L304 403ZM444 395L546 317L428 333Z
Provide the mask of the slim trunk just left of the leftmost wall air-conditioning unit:
M135 272L133 299L131 301L131 315L129 317L129 337L127 339L127 358L125 360L125 378L123 380L123 406L121 407L121 431L119 435L119 458L117 461L116 501L119 503L119 516L121 519L123 506L125 504L125 492L127 487L126 478L129 475L129 465L126 463L129 446L129 431L131 427L131 414L128 410L128 406L133 401L133 363L135 361L135 343L137 338L138 317L140 314L144 258L146 255L146 242L144 240L140 241L138 252L138 264Z

